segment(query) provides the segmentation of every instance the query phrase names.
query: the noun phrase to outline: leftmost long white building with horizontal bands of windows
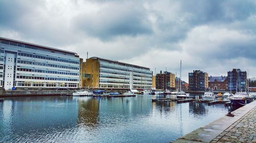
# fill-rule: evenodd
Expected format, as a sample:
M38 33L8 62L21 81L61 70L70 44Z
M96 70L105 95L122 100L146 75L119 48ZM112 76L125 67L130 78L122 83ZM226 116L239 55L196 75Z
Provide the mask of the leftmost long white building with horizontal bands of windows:
M0 87L78 88L75 52L0 37Z

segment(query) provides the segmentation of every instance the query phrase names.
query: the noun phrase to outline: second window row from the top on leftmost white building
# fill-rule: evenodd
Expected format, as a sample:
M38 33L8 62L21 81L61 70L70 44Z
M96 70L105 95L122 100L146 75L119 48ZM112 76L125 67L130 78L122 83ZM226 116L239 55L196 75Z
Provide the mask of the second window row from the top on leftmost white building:
M20 53L20 52L18 52L18 55L27 56L27 57L31 57L31 58L37 58L37 59L65 62L65 63L72 63L72 64L79 64L79 62L76 62L76 61L71 61L71 60L66 60L66 59L59 59L59 58L51 58L51 57L43 56L43 55L34 55L34 54Z

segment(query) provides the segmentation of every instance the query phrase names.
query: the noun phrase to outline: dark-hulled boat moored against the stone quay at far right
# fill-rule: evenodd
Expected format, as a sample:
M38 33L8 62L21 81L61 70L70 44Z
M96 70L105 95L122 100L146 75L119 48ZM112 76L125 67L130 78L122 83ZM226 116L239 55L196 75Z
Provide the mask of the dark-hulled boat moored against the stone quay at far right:
M248 93L245 92L239 92L234 94L233 97L229 98L231 105L246 105L253 101L253 98L249 96Z

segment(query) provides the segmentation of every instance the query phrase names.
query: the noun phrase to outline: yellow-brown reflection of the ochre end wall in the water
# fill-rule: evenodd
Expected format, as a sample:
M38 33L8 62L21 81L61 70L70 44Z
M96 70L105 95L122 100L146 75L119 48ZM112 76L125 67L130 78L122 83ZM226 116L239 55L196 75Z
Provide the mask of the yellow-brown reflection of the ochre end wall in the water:
M99 120L98 98L84 97L78 100L77 123L86 126L95 126Z

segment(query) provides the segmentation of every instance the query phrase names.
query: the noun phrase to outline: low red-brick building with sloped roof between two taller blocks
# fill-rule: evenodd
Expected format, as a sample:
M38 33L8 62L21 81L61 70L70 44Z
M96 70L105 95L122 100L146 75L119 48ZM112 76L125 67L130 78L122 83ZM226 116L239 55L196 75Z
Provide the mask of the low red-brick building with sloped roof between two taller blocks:
M209 76L209 89L228 91L228 78L226 76Z

